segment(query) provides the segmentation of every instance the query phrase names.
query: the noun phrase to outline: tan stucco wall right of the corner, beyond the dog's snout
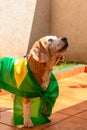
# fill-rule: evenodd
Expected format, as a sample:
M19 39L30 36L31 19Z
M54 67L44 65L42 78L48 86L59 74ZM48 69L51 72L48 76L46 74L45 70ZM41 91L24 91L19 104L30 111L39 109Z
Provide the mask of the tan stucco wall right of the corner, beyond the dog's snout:
M68 61L87 62L87 0L52 0L51 34L67 37Z

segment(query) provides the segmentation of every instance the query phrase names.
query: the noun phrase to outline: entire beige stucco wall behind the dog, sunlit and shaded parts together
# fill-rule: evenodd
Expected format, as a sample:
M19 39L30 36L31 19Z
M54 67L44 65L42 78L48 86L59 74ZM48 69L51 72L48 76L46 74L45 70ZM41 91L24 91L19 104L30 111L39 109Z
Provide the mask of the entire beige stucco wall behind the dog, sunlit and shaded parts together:
M24 55L45 35L67 37L66 60L87 62L87 0L0 0L0 55Z

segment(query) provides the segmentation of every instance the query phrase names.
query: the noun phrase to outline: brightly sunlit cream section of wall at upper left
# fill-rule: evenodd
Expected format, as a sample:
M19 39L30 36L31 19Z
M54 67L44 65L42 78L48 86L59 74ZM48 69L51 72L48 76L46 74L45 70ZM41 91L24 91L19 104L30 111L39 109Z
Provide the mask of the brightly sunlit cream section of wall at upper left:
M28 40L36 0L0 0L0 55L23 55Z

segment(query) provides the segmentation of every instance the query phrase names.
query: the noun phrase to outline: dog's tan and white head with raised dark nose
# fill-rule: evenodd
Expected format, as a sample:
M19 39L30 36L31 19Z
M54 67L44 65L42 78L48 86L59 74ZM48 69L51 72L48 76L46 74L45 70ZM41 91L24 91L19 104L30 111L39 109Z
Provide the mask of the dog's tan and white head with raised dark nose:
M66 52L68 42L66 38L57 38L56 36L46 36L36 41L30 50L30 55L41 63L46 63L52 58L62 60ZM59 61L60 61L59 60Z

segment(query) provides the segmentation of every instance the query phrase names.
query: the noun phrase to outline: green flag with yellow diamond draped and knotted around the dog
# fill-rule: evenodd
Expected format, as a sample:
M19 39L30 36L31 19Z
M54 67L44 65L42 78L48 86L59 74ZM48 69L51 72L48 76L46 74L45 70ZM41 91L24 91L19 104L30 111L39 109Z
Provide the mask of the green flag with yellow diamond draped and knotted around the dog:
M23 124L22 97L32 98L31 120L34 124L47 123L48 116L59 93L58 83L51 74L48 88L44 91L34 78L27 57L0 59L0 88L16 94L14 100L14 124Z

